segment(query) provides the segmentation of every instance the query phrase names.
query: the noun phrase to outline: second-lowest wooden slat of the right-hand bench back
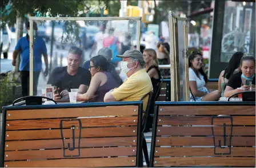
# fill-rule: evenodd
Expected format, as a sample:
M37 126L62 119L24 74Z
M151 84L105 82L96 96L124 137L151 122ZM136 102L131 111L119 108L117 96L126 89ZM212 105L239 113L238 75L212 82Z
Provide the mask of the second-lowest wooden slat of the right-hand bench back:
M229 147L221 149L223 153L229 153ZM214 154L214 147L155 147L155 156L253 156L255 147L231 147L230 155Z

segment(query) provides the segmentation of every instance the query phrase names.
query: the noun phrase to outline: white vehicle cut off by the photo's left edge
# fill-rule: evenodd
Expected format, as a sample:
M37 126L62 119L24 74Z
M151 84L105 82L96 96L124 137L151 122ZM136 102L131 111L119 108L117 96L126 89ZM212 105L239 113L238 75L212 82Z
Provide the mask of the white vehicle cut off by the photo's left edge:
M8 24L5 24L5 26L1 28L0 36L1 36L0 56L3 53L3 58L7 59L8 51L11 45L11 30Z

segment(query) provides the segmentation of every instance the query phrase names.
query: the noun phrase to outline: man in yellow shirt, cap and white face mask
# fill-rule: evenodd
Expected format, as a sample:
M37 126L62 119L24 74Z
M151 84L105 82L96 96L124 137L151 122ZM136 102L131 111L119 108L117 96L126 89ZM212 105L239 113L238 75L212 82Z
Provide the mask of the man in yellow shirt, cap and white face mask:
M151 79L144 68L145 62L138 50L127 50L122 58L121 69L127 75L125 82L118 88L107 92L104 101L138 101L153 91ZM148 97L143 100L143 110L146 110Z

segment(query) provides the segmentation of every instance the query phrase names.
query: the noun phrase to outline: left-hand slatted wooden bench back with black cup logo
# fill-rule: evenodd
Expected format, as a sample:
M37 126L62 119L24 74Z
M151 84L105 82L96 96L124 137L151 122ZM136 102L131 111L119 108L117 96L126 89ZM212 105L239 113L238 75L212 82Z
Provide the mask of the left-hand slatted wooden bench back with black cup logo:
M142 101L3 108L0 167L142 166Z

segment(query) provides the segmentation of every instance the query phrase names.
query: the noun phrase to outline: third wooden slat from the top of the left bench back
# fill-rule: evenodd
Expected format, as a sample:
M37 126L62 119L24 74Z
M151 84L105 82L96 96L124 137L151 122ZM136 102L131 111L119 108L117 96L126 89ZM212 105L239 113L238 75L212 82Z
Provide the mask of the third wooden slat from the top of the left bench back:
M62 129L65 138L73 137L71 129ZM75 137L78 138L79 129L75 129ZM81 138L89 137L129 137L137 136L137 126L111 127L111 128L83 128ZM51 130L17 130L6 131L5 140L43 140L61 138L61 129Z

